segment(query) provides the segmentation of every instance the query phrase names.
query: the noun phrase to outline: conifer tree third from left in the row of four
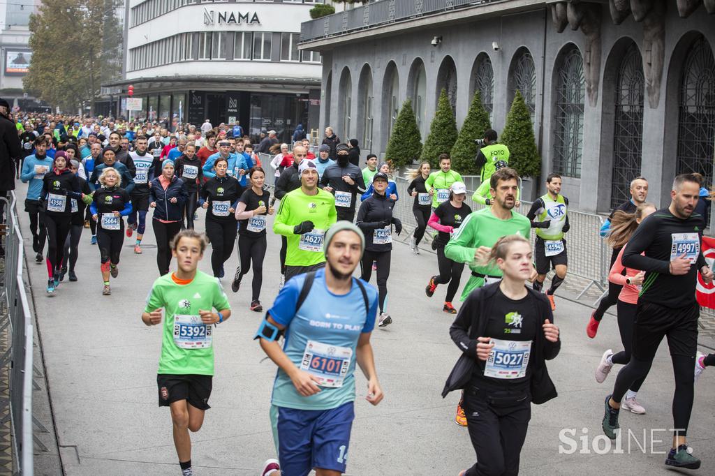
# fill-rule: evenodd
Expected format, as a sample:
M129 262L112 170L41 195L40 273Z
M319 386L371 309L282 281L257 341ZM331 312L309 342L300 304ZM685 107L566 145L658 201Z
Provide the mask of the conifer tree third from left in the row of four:
M452 147L452 168L462 175L477 175L479 171L474 162L477 155L477 144L474 139L484 137L484 132L491 129L489 114L482 104L482 96L475 91L472 104L459 131L457 142Z

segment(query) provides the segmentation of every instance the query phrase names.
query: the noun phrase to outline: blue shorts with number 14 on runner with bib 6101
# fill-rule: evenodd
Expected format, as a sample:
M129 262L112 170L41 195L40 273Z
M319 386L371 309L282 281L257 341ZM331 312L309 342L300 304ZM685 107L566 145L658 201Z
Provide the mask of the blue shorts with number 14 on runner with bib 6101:
M278 409L278 459L284 475L306 476L313 468L345 472L353 402L330 410Z

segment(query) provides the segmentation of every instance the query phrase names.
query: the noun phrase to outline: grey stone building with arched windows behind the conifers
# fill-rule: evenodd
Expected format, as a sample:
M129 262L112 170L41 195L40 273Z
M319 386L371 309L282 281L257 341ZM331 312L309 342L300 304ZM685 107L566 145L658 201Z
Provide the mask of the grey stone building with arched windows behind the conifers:
M606 212L639 175L661 204L675 174L713 183L714 13L712 0L381 0L303 24L300 48L322 54L320 123L376 154L408 97L424 139L442 89L458 126L480 91L498 132L521 91L541 176Z

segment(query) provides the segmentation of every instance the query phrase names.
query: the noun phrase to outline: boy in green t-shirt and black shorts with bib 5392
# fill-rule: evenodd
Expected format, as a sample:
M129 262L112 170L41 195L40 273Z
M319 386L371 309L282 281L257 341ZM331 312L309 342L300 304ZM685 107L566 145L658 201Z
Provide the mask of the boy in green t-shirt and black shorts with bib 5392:
M159 407L170 407L174 445L183 476L193 476L191 437L204 422L214 375L212 324L231 315L228 298L215 277L197 270L204 256L203 233L184 229L172 241L172 255L179 269L154 281L147 297L142 322L162 323L162 356L157 385ZM213 312L212 309L218 309Z

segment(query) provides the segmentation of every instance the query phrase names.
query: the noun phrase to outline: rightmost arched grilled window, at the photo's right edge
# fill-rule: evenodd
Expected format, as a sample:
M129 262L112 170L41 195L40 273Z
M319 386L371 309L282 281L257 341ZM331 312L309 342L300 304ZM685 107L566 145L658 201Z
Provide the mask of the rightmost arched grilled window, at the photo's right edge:
M676 173L699 172L709 187L715 157L715 59L702 36L685 57L679 103Z

